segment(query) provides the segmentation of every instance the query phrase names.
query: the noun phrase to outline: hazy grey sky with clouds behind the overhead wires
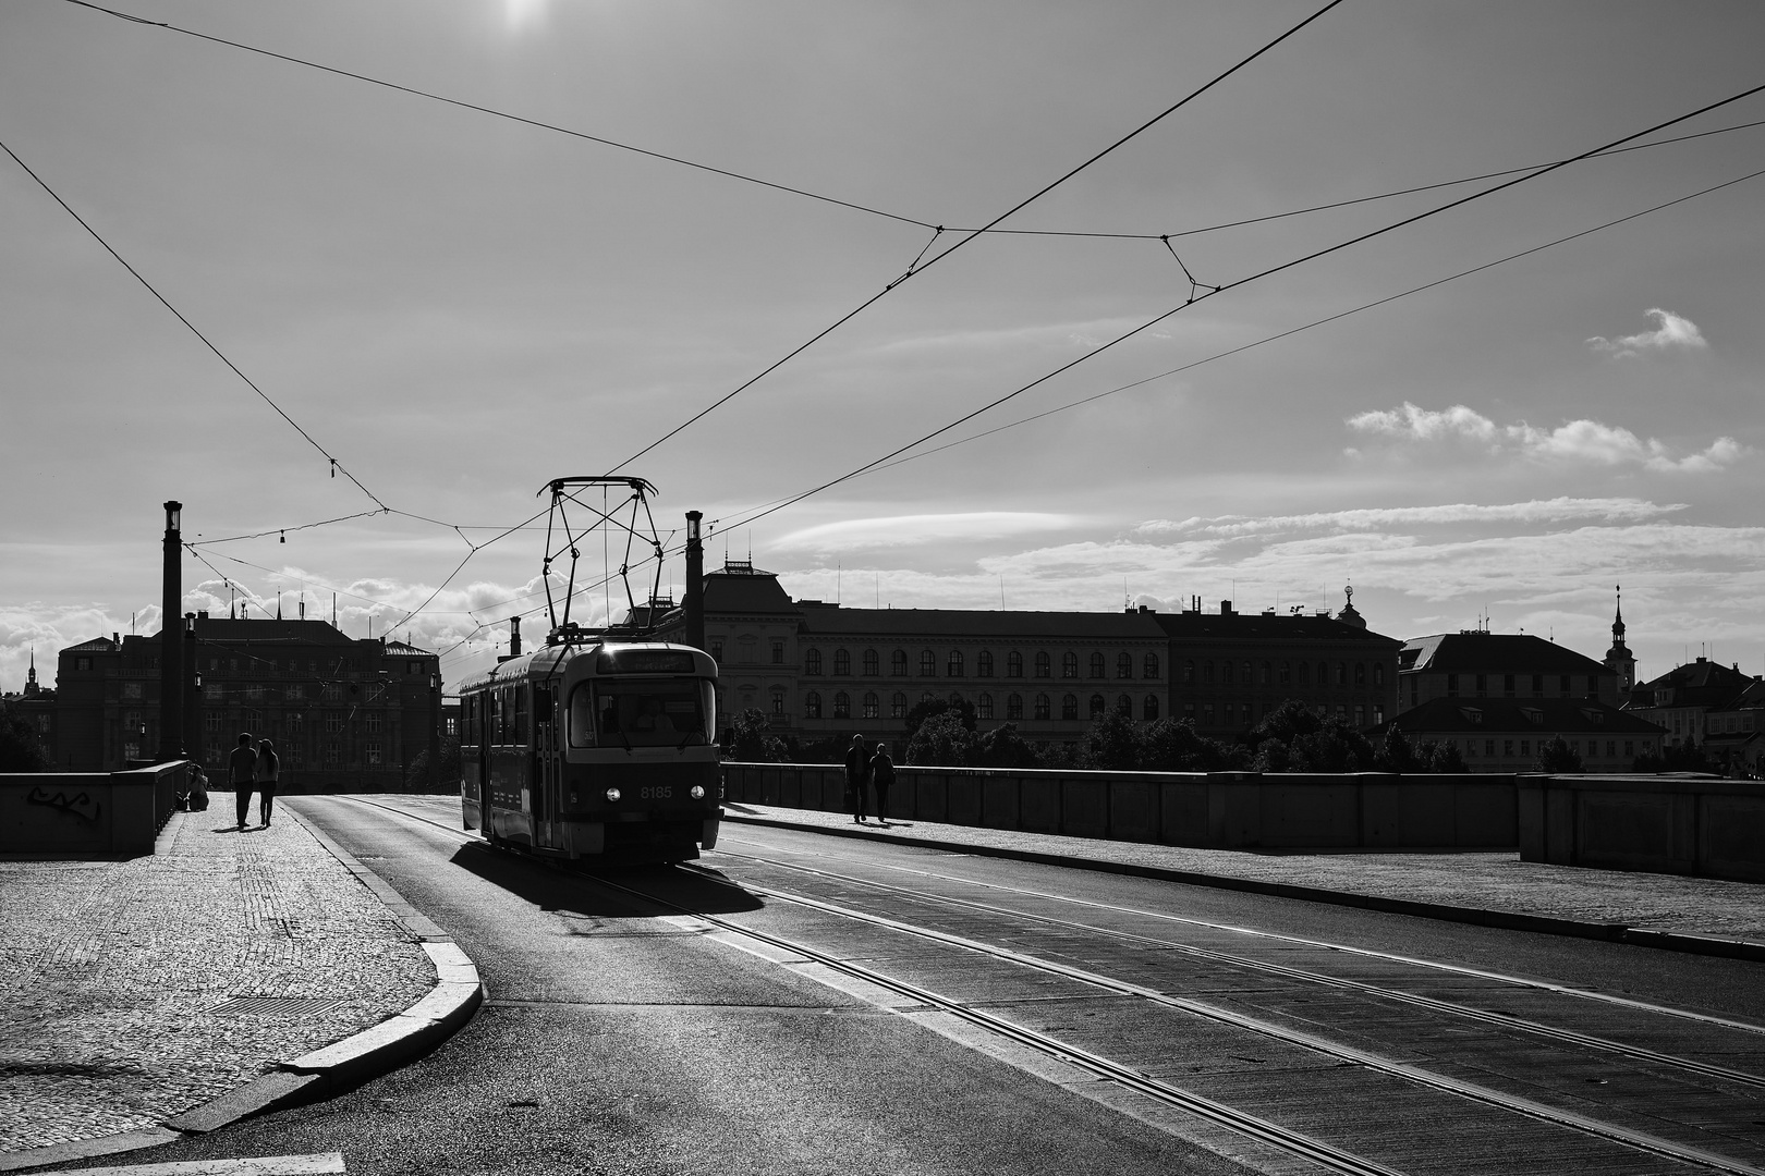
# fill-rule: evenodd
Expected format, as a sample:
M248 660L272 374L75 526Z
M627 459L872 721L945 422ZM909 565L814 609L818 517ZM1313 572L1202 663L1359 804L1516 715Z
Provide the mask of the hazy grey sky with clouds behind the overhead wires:
M32 645L51 677L159 628L169 497L212 564L185 559L185 608L224 610L222 575L289 615L335 591L348 633L409 629L457 681L537 605L544 536L406 621L468 540L964 240L914 222L992 220L1317 7L115 2L874 212L5 0L0 143L374 495L0 155L5 689ZM1126 236L969 242L625 473L796 596L1287 610L1352 582L1393 636L1486 612L1599 658L1622 584L1645 675L1705 647L1758 674L1765 176L1255 344L1765 169L1765 125L1255 280L1502 180L1193 229L1567 159L1765 85L1761 44L1753 2L1347 0L1001 224ZM1649 141L1760 120L1765 95ZM1183 307L1184 266L1227 289L927 448L1131 388L741 525ZM376 497L438 522L305 527Z

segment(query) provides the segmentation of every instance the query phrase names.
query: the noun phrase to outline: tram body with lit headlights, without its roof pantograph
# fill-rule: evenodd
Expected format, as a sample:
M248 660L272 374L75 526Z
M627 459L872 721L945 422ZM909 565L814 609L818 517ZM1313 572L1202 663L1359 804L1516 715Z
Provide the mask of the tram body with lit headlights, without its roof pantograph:
M461 809L494 846L681 862L722 820L717 663L690 645L552 633L461 686Z

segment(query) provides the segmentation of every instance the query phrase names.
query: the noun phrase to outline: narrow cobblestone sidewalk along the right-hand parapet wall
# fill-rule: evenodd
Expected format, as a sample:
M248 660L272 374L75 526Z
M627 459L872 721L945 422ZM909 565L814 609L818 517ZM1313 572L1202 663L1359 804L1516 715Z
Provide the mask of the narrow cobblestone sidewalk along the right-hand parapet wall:
M762 804L727 804L725 808L736 818L752 815L828 829L856 829L852 818L844 813ZM1765 887L1749 882L1550 866L1521 862L1518 853L1246 853L1243 850L1190 850L1133 841L1054 837L934 822L891 820L888 829L895 830L897 836L943 841L953 846L974 845L1031 853L1063 853L1412 903L1438 903L1765 943ZM731 823L729 834L740 836L740 825ZM877 836L888 836L888 832L881 830Z

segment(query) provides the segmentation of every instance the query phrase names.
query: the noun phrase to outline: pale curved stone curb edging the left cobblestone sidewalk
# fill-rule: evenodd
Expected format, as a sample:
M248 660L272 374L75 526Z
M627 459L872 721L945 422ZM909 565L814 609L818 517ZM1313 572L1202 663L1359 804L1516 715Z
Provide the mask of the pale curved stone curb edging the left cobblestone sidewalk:
M454 943L452 936L309 822L297 818L286 808L281 815L312 834L314 841L342 862L344 869L372 890L404 929L417 936L434 964L436 986L404 1012L341 1042L282 1061L268 1074L175 1114L159 1127L4 1153L0 1155L0 1172L116 1155L138 1148L157 1148L187 1135L205 1135L254 1114L323 1102L420 1058L471 1021L478 1005L484 1003L484 980L478 977L478 966Z

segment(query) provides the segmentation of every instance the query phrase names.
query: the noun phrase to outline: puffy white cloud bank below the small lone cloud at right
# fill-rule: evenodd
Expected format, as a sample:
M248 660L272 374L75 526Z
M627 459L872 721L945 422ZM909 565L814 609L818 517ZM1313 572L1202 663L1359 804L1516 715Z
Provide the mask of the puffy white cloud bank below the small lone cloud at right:
M1620 425L1587 418L1557 428L1536 428L1527 421L1502 427L1463 404L1435 413L1405 400L1396 409L1357 413L1347 425L1357 432L1417 444L1468 439L1488 446L1491 453L1511 453L1536 462L1641 465L1654 473L1680 474L1717 473L1753 451L1733 437L1717 437L1698 453L1675 455L1663 441L1643 439Z

